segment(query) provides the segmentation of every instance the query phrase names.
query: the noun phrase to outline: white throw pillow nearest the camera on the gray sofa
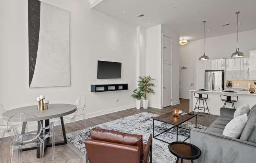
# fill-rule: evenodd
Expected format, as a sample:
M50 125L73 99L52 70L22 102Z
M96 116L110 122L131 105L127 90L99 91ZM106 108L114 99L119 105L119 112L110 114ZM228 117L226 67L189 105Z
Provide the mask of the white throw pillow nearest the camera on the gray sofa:
M248 117L246 113L232 119L226 125L222 135L229 136L231 138L238 138L241 135L243 128L247 123L247 120L248 120Z

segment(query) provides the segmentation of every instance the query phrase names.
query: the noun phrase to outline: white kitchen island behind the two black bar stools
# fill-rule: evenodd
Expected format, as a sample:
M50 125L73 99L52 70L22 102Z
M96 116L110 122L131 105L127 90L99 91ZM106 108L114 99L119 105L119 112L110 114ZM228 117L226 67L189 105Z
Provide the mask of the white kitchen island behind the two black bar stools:
M235 107L240 107L241 105L248 103L250 108L256 104L256 93L251 94L249 91L237 91L237 92L221 92L221 91L198 91L198 90L190 90L190 104L189 104L189 110L192 112L195 108L197 99L194 96L194 93L207 93L208 99L207 105L208 109L210 111L210 114L218 115L219 116L219 109L223 107L224 101L221 101L220 95L227 95L227 96L238 96L238 101L235 102ZM197 103L198 105L198 103ZM200 103L200 107L203 107L203 102ZM227 103L226 107L232 108L231 103ZM202 112L203 110L200 110ZM197 109L195 110L197 112ZM207 110L205 111L207 112Z

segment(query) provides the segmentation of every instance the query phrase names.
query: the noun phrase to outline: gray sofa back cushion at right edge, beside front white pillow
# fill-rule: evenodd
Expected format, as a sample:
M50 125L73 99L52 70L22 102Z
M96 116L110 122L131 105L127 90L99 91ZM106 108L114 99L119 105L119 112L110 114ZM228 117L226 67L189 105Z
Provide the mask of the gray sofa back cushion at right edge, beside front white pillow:
M256 143L256 105L250 110L248 121L243 129L240 139Z

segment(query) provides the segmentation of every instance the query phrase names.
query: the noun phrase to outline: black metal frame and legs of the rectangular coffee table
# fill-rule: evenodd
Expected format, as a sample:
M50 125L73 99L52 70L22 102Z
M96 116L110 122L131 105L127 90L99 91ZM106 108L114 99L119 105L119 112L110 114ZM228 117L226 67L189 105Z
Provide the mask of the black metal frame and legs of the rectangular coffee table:
M192 118L194 118L194 117L192 117ZM191 118L190 118L191 119ZM155 139L157 139L157 140L160 140L160 141L163 141L164 143L171 143L171 142L167 142L167 141L164 141L164 140L162 140L162 139L159 139L159 138L156 138L157 136L159 136L159 135L161 135L161 134L163 134L163 133L165 133L165 132L167 132L168 130L170 130L170 129L173 129L174 127L176 127L176 141L178 141L178 132L179 132L179 128L180 129L185 129L185 130L191 130L191 129L186 129L186 128L184 128L184 127L179 127L179 125L181 125L181 124L179 124L179 125L174 125L174 124L171 124L171 123L168 123L168 124L170 124L170 125L174 125L173 127L171 127L171 128L169 128L169 129L167 129L167 130L165 130L165 131L163 131L163 132L161 132L160 134L157 134L157 135L154 135L154 131L155 131L155 121L159 121L159 120L155 120L154 118L153 118L153 138L155 138ZM186 120L186 121L188 121L188 120ZM186 121L184 121L184 122L186 122ZM166 122L164 122L164 121L160 121L160 122L163 122L163 123L166 123ZM183 123L184 123L183 122ZM196 116L196 127L195 128L197 128L197 116ZM190 138L190 136L188 136L185 140L183 140L183 142L184 141L186 141L188 138Z

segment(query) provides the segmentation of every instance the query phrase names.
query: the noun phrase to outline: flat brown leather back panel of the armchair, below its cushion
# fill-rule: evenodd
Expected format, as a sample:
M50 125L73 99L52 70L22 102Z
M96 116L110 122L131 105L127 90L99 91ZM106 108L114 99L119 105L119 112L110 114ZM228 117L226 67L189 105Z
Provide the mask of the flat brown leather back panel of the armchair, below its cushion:
M139 147L106 141L84 141L90 163L140 163Z

